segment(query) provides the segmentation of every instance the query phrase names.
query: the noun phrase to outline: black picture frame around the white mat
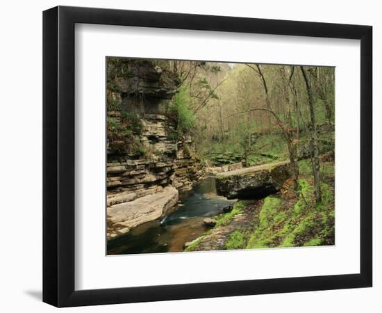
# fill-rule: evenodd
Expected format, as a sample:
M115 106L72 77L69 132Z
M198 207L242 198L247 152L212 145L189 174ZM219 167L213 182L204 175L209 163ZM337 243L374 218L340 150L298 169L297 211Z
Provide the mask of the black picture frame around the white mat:
M360 40L360 273L74 289L74 25ZM356 204L355 204L356 205ZM372 26L58 6L43 13L43 301L57 307L372 287Z

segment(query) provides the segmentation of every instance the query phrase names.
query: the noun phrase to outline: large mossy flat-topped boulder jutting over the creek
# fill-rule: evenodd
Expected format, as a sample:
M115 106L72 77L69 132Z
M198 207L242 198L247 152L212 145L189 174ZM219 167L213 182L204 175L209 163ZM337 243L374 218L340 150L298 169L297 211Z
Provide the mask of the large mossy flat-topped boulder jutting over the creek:
M290 163L284 161L219 173L216 188L219 195L228 199L263 198L279 191L288 177Z

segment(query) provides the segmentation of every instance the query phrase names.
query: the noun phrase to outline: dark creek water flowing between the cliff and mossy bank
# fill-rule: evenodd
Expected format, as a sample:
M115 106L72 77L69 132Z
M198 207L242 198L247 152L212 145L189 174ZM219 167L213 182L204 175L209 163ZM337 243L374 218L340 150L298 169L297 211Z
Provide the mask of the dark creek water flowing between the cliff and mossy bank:
M186 242L208 230L204 218L221 213L232 202L216 194L215 177L206 177L192 190L179 194L172 213L108 241L108 255L183 251Z

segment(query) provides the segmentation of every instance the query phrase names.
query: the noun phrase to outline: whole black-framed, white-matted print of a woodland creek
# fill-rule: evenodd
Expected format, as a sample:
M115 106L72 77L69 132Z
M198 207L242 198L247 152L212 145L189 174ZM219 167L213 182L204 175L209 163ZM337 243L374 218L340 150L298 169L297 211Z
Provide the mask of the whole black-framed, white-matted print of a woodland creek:
M43 300L372 286L372 27L43 15Z

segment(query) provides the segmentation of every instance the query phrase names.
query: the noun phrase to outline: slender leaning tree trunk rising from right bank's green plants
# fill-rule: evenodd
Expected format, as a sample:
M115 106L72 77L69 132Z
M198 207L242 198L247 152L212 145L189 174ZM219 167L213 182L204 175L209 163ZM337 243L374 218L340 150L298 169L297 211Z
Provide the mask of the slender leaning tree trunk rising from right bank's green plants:
M301 72L304 76L304 81L306 85L306 92L308 93L308 103L310 109L310 123L312 125L312 138L311 138L311 150L312 150L312 168L313 177L315 179L315 202L319 203L321 201L321 188L319 182L319 151L318 151L318 140L317 140L317 125L315 122L315 110L313 106L312 88L310 87L310 81L303 66L300 66Z

